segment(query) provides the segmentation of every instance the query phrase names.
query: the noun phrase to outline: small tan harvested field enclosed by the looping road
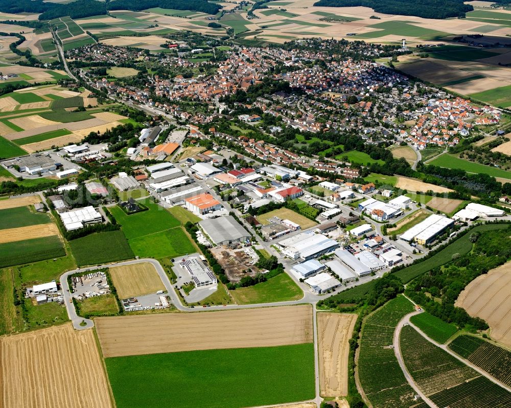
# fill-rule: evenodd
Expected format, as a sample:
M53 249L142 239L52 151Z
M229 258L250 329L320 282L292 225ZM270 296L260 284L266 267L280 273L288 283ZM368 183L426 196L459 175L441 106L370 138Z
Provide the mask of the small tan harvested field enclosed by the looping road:
M156 269L149 262L110 268L110 276L121 299L165 290Z

